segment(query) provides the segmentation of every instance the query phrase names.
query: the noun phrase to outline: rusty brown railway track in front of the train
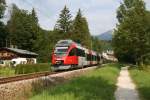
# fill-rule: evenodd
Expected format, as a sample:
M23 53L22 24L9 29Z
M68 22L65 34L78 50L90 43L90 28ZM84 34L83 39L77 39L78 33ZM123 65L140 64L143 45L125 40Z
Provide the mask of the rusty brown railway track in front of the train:
M56 74L56 72L39 72L39 73L24 74L24 75L18 75L18 76L13 76L13 77L1 78L0 85L10 83L10 82L34 79L34 78L48 76L52 74Z

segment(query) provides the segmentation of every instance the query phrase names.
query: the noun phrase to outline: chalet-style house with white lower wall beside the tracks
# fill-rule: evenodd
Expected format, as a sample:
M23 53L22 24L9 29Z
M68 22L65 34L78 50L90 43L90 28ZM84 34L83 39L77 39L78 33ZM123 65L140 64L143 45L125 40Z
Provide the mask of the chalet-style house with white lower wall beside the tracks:
M0 66L35 64L38 54L16 48L0 48Z

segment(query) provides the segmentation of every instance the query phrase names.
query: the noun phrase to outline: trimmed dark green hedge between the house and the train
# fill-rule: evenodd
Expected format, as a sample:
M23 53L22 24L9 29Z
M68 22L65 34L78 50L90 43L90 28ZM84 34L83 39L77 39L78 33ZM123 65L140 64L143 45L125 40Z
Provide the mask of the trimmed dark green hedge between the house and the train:
M17 65L15 68L15 74L28 74L35 72L50 71L50 64L41 63L41 64L22 64Z

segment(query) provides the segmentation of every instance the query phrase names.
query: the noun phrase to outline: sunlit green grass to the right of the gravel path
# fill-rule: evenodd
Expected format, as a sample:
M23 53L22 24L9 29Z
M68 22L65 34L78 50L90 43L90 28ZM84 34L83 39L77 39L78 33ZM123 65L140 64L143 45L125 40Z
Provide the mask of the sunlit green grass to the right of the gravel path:
M141 100L150 100L150 71L131 69L130 74L137 85Z

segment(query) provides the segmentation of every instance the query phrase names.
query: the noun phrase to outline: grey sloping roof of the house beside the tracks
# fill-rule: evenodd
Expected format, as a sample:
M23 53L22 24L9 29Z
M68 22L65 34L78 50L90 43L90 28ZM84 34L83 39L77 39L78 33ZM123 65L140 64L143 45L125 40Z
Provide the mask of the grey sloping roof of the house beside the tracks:
M15 53L23 54L23 55L38 56L37 53L30 52L30 51L27 51L27 50L16 49L16 48L0 48L0 50L3 50L3 49L4 49L4 50L9 50L9 51L12 51L12 52L15 52Z

